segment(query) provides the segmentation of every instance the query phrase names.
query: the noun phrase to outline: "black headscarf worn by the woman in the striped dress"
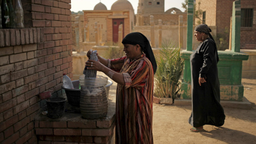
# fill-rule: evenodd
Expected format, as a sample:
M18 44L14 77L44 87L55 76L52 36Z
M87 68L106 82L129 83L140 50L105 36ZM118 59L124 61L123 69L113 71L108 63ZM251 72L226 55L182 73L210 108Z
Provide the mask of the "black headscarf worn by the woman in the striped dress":
M150 60L153 66L154 74L156 73L156 68L157 68L156 59L152 51L152 48L149 44L149 41L145 35L139 32L130 33L124 37L122 43L132 44L132 45L139 44L142 49L142 52L145 53L146 57Z

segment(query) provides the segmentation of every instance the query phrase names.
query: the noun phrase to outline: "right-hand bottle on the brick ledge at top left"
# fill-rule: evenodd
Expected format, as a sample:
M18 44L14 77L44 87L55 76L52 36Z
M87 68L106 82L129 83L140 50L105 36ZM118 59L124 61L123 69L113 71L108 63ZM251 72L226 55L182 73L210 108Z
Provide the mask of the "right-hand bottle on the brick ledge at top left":
M15 9L15 26L16 28L24 28L24 14L20 0L16 1Z

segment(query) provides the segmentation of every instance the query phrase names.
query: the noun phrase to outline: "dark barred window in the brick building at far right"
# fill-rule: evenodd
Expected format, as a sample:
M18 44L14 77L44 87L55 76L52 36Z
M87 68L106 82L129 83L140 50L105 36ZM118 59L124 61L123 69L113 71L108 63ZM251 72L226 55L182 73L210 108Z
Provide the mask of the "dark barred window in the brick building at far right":
M241 27L252 27L253 9L241 9Z

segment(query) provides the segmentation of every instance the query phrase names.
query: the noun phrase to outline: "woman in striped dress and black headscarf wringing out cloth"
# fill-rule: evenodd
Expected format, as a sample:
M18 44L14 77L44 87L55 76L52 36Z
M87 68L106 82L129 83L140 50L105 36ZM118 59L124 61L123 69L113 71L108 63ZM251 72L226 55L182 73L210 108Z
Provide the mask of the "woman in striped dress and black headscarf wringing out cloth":
M88 60L88 69L102 71L117 83L116 143L153 142L153 85L156 60L148 39L130 33L122 41L125 57ZM90 52L87 53L90 55Z

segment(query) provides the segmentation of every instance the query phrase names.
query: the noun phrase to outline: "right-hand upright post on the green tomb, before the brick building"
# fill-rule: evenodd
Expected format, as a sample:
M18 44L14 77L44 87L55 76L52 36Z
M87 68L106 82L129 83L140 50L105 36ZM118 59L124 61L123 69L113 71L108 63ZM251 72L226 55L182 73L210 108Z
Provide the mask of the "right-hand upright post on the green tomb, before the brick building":
M241 0L233 2L231 50L240 52Z

